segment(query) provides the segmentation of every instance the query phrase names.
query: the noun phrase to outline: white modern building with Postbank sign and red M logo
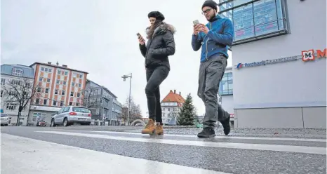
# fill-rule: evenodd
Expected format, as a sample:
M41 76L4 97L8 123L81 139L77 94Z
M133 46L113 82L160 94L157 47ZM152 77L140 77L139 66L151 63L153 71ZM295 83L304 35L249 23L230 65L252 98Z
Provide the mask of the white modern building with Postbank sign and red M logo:
M326 128L326 0L219 7L235 29L234 126Z

